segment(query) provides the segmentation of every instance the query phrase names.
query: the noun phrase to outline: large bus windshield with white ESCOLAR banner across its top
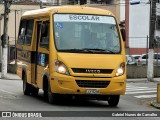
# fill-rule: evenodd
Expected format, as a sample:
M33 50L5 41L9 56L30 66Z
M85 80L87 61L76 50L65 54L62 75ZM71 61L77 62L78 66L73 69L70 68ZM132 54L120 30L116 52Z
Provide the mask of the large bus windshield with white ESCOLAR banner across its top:
M112 16L54 14L54 36L59 52L120 53L120 39Z

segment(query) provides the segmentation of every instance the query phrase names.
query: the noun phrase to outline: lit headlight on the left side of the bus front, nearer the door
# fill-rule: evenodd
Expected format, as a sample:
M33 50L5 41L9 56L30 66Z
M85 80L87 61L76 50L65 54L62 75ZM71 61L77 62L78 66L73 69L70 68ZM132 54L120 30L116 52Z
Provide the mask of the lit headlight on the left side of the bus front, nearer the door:
M64 74L64 75L69 75L69 71L63 62L61 62L59 60L55 60L54 64L55 64L56 72Z

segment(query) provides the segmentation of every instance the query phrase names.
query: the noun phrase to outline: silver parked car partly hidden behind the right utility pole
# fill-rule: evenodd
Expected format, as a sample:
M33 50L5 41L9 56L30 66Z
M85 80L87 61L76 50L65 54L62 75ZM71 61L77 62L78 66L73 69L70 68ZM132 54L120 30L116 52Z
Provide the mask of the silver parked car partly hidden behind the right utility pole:
M148 64L148 54L142 54L137 61L137 65L146 65L146 64ZM154 53L153 64L160 65L160 53Z

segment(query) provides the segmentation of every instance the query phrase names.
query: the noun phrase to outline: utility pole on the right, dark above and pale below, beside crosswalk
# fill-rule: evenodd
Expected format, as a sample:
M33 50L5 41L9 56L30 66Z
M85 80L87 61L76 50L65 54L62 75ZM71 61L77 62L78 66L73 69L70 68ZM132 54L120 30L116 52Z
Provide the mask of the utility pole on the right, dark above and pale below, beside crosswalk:
M153 81L154 78L153 57L154 57L155 22L156 22L156 0L150 0L149 51L148 51L148 69L147 69L148 81Z

